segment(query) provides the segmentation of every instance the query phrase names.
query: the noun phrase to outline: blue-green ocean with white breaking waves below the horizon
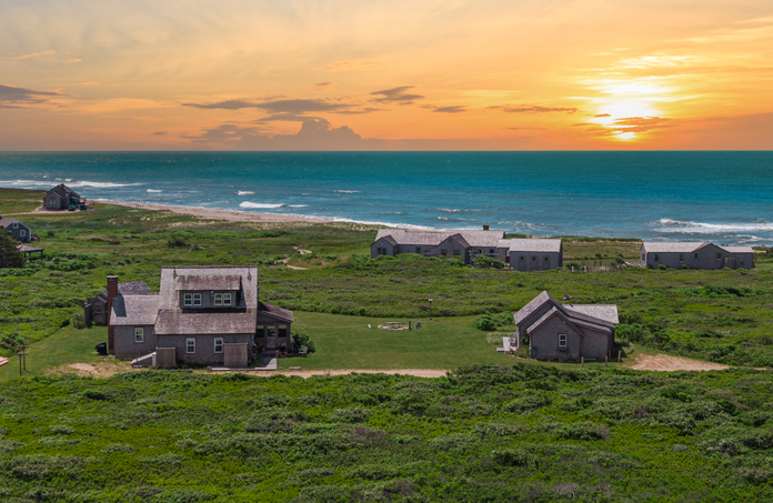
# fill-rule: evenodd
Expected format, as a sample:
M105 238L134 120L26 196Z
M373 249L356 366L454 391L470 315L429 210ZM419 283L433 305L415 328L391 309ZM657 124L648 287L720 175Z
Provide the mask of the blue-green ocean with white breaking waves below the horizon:
M425 229L773 244L773 152L0 152L0 187Z

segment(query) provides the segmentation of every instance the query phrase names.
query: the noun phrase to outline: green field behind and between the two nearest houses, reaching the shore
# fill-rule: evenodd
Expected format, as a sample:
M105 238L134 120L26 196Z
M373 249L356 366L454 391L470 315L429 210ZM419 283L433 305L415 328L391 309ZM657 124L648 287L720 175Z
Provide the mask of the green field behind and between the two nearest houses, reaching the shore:
M0 214L32 210L39 192L3 190ZM760 254L752 271L632 268L520 273L411 254L371 260L375 228L357 224L202 221L106 204L88 212L21 218L41 237L47 259L23 270L0 270L0 353L6 355L19 342L59 334L84 299L104 289L108 274L118 274L121 281L143 280L158 291L162 265L254 263L260 268L261 299L299 312L295 329L309 332L320 341L320 354L344 366L495 363L496 354L476 349L475 338L484 333L465 335L475 333L469 316L506 318L542 290L558 298L572 295L576 303L618 304L621 339L720 363L773 366L770 250ZM621 255L630 260L639 253L638 241L565 240L568 262L603 262ZM312 253L301 256L298 248ZM307 269L279 266L285 259ZM378 320L426 319L429 298L434 299L438 323L449 323L445 331L428 329L421 344L377 336L378 352L365 351L372 332L362 326ZM314 324L302 321L301 312L344 316L310 315ZM419 356L424 352L428 356ZM405 363L395 363L396 355ZM371 364L365 365L368 359ZM318 361L309 360L308 365ZM419 365L422 361L426 363Z

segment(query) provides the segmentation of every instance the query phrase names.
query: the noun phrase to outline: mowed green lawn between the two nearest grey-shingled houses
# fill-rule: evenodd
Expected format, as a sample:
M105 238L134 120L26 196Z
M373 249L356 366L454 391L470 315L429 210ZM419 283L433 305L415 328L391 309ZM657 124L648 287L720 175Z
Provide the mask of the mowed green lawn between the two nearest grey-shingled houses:
M475 316L411 320L421 329L389 331L378 325L406 319L363 318L295 312L294 332L308 332L317 352L305 359L280 360L281 366L324 369L456 369L472 364L512 364L496 352L486 332L474 328ZM372 329L368 328L371 324ZM514 330L514 328L513 328Z

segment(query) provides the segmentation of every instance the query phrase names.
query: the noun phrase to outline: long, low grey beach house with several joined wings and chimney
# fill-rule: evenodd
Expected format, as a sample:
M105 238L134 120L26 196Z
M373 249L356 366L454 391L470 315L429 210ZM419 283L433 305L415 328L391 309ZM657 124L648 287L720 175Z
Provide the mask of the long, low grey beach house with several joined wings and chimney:
M519 271L539 271L563 265L561 240L504 239L504 231L423 231L382 229L371 244L371 259L379 255L419 253L425 256L455 256L472 263L478 255L510 262ZM513 260L512 258L516 259Z

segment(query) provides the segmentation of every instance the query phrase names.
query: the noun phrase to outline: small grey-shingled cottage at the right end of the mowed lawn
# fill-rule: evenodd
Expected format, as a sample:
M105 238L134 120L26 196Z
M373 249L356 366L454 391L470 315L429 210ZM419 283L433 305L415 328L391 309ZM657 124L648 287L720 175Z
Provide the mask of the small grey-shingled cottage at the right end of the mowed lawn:
M513 315L515 344L529 340L536 360L601 360L614 346L616 305L561 304L540 293Z

